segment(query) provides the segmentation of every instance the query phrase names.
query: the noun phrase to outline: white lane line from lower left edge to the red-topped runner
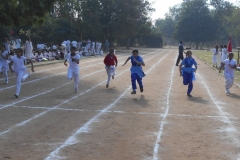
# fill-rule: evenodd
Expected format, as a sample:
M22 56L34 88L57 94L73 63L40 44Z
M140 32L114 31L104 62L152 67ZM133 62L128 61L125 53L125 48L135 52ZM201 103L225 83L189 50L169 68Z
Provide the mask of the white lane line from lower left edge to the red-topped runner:
M153 58L153 57L155 57L155 56L158 56L158 54L155 54L155 55L151 56L151 57L148 58L147 60L149 60L149 59L151 59L151 58ZM166 56L167 56L167 55L165 55L164 57L166 57ZM164 58L164 57L163 57L163 58ZM161 59L163 59L163 58L161 58ZM160 59L160 60L161 60L161 59ZM153 66L155 66L155 65L153 65ZM129 69L126 69L125 71L121 72L121 73L118 74L117 76L120 76L120 75L122 75L123 73L125 73L125 72L127 72L127 71L129 71ZM117 77L117 76L116 76L116 77ZM25 121L23 121L23 122L20 122L20 123L16 124L15 126L9 128L7 131L0 132L0 136L2 136L2 135L5 134L5 133L8 133L9 131L11 131L11 130L12 130L13 128L15 128L15 127L23 126L23 125L27 124L28 122L30 122L30 121L38 118L38 117L41 117L42 115L44 115L44 114L52 111L53 109L58 108L59 106L65 104L65 103L68 103L69 101L71 101L71 100L73 100L73 99L75 99L75 98L78 98L79 96L82 96L82 95L84 95L85 93L90 92L91 90L93 90L93 89L96 88L97 86L100 86L100 85L103 84L104 82L106 82L106 80L105 80L105 81L102 81L101 83L93 86L92 88L90 88L90 89L88 89L88 90L86 90L86 91L84 91L84 92L82 92L82 93L80 93L80 94L78 94L78 95L70 98L70 99L65 100L64 102L62 102L62 103L59 104L59 105L56 105L56 106L53 107L53 108L49 108L48 110L46 110L46 111L44 111L44 112L41 112L40 114L37 114L37 115L35 115L34 117L32 117L32 118L30 118L30 119L27 119L27 120L25 120ZM14 103L14 104L16 104L16 103ZM12 104L11 106L13 106L14 104ZM5 108L6 108L6 107L5 107ZM0 108L0 109L1 109L1 108Z

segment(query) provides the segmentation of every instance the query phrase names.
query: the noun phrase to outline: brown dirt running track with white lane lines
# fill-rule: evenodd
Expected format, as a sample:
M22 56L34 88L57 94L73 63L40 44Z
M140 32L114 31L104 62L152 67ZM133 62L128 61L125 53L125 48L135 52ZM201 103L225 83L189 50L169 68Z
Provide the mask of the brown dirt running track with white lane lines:
M186 96L177 51L140 49L144 92L131 95L130 54L117 52L117 76L105 88L103 57L81 60L79 91L62 63L36 67L15 99L15 78L0 83L0 159L240 159L240 89L196 58L193 97Z

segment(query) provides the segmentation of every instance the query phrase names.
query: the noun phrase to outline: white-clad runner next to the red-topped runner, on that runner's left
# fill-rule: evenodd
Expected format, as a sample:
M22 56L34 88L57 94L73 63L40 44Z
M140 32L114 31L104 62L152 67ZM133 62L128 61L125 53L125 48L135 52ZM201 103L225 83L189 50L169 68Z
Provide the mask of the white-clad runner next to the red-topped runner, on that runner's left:
M76 54L76 48L71 47L71 53L67 55L66 60L64 61L64 65L67 65L67 62L69 63L68 67L68 73L67 73L67 78L68 79L74 79L74 88L75 92L78 91L78 84L79 84L79 61L80 61L80 56Z

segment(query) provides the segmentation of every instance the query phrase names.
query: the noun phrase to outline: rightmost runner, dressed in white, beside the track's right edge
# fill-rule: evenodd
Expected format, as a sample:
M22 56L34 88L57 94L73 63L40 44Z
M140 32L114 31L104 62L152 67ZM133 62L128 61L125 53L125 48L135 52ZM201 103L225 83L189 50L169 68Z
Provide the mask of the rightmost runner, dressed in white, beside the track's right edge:
M226 94L229 95L230 91L229 89L234 84L234 78L235 78L235 69L237 68L237 62L235 59L233 59L233 53L229 53L228 59L225 59L223 61L222 66L219 69L219 72L221 72L221 69L224 67L224 77L225 77L225 88L226 88Z

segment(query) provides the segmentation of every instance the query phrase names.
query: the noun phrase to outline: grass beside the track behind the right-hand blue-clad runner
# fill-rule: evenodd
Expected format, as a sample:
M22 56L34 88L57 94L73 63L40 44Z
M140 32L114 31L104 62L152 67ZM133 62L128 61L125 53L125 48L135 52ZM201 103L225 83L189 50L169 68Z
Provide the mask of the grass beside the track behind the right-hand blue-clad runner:
M237 52L234 53L235 57L234 59L237 60ZM204 62L208 63L208 64L212 64L212 52L211 51L193 51L193 55L197 56L198 58L200 58L201 60L203 60ZM235 82L240 84L240 71L236 71L236 78L235 78Z

